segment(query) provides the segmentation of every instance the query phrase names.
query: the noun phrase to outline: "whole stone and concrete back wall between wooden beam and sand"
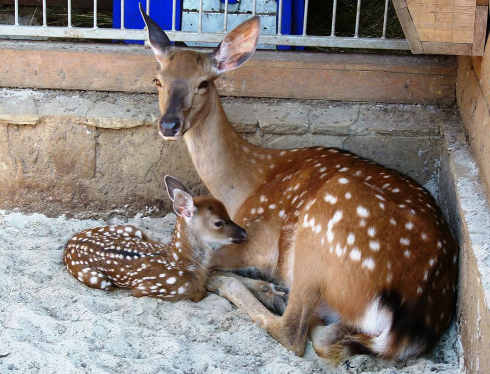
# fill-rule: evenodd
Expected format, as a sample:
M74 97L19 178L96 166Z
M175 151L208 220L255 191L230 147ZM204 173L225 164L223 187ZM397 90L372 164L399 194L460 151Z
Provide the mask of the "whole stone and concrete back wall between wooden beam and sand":
M224 107L254 144L348 149L437 191L439 128L447 120L440 107L244 98ZM155 95L0 90L0 208L162 215L170 209L165 174L205 192L185 145L165 142L157 118Z

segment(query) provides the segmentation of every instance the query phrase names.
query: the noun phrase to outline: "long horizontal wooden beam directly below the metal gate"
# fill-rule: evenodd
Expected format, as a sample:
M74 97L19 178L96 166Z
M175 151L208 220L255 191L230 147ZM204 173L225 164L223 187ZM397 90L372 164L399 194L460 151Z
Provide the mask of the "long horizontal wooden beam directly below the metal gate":
M0 86L156 92L143 46L0 42ZM220 95L452 104L450 57L258 51L217 80Z

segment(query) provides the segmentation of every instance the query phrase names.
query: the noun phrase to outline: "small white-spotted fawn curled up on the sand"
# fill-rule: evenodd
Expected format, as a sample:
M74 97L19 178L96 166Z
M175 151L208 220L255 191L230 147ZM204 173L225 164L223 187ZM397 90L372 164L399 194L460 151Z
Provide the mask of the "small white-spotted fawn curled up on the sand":
M66 244L68 271L92 288L128 288L136 297L170 301L206 296L211 248L206 243L240 243L247 235L232 222L221 202L192 197L177 179L166 176L177 222L169 244L153 242L134 226L106 226L77 233Z

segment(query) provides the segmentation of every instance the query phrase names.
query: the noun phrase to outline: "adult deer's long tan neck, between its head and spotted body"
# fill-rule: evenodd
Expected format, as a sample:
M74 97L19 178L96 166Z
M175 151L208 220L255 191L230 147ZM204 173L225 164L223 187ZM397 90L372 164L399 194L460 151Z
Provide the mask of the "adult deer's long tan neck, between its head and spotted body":
M202 181L233 219L237 209L262 184L267 167L261 163L273 151L253 146L238 135L214 86L184 139Z

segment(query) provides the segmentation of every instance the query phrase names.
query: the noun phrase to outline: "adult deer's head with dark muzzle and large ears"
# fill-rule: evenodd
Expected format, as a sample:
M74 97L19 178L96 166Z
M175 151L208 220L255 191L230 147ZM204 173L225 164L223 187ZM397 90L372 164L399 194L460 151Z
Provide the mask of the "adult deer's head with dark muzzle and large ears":
M206 102L218 95L214 80L252 56L257 46L260 19L254 16L231 30L212 53L183 50L172 45L167 34L139 5L148 28L148 38L160 70L154 80L158 88L161 118L159 133L166 140L180 138L201 115Z

